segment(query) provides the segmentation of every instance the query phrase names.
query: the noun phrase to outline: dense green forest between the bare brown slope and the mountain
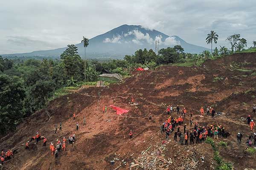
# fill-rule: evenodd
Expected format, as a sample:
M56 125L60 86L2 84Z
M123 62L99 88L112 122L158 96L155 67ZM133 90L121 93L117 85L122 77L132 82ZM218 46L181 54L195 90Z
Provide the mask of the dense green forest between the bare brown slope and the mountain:
M238 34L230 37L230 42L237 37ZM54 97L65 94L56 92L65 87L79 87L95 82L99 74L118 73L129 76L138 67L155 69L166 64L200 66L206 59L244 50L246 43L241 43L231 46L231 50L220 46L219 49L213 49L212 53L203 51L201 54L184 53L180 45L162 48L157 54L152 49L140 49L122 60L86 60L85 69L84 59L79 56L75 45L67 45L68 48L59 59L0 57L0 134L14 130L24 117L44 108Z

